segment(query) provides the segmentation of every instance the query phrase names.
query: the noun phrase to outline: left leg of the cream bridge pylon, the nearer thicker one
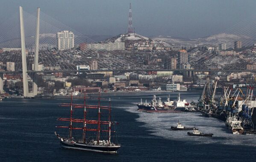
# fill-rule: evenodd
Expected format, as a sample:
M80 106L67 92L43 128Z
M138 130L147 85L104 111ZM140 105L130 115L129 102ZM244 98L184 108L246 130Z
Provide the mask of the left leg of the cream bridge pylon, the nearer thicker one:
M27 80L26 68L26 47L24 35L23 9L20 6L20 23L21 23L21 58L22 58L22 77L23 77L23 93L24 97L29 97L29 85Z

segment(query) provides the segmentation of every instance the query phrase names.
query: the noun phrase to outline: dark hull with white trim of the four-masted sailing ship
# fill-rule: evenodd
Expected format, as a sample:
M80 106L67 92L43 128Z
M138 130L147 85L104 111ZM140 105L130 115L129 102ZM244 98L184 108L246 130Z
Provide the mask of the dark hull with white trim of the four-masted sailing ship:
M78 143L78 142L71 144L64 141L60 141L60 145L63 148L84 150L84 151L94 151L94 152L101 152L101 153L117 153L117 150L121 147L120 145L117 145L117 146L87 145L87 144Z

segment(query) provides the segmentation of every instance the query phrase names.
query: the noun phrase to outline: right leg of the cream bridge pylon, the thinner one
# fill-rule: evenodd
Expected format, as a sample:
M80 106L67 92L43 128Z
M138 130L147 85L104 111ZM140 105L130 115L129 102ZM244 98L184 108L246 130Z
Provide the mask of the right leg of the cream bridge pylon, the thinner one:
M39 50L39 25L40 25L40 8L37 8L36 28L35 28L35 60L34 71L38 71L38 50ZM38 75L34 73L33 78L33 96L37 95Z

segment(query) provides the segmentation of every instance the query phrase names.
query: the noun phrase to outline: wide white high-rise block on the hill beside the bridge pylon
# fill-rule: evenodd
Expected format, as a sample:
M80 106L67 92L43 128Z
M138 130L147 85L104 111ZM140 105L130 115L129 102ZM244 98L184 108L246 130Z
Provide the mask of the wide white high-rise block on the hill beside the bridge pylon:
M56 34L56 48L66 50L74 48L74 33L72 31L60 31Z

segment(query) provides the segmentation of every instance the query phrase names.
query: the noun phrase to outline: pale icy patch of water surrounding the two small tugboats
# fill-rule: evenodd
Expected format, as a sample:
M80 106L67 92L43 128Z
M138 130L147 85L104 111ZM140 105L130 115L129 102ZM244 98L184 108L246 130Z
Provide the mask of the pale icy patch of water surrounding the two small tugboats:
M203 117L200 113L154 114L137 111L137 106L131 106L126 111L138 114L139 118L136 120L144 122L143 127L152 131L152 135L161 136L165 139L196 142L197 144L221 143L256 146L256 136L231 134L223 121L213 117ZM177 126L178 120L187 127L195 125L203 133L212 133L214 135L213 137L188 136L188 131L171 131L171 126Z

